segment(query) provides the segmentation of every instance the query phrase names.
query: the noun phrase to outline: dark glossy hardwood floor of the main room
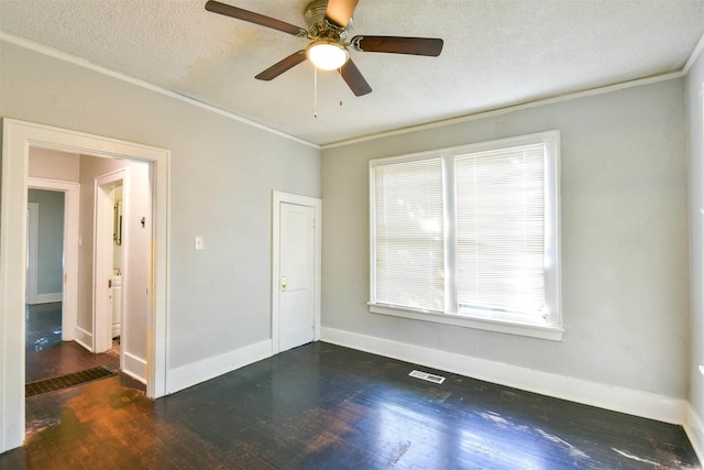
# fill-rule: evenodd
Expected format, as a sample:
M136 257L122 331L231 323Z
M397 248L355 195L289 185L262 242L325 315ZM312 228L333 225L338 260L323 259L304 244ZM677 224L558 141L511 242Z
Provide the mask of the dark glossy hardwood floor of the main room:
M117 378L33 397L28 429L0 468L701 469L680 426L324 342L155 402Z

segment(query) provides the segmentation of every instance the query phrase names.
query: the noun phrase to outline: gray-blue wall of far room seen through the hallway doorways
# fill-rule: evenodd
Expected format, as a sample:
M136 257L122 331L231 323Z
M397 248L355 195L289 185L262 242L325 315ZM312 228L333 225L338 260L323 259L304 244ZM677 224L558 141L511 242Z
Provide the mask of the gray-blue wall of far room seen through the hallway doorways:
M64 193L29 189L28 203L40 205L36 293L61 294L64 286Z

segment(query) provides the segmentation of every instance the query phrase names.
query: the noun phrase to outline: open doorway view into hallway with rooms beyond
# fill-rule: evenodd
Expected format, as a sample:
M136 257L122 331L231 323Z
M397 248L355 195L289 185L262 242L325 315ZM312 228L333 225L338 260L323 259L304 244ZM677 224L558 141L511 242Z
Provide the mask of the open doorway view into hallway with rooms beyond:
M151 233L129 214L152 218L148 163L32 147L29 176L25 396L91 370L123 370L143 390ZM74 186L80 197L64 197Z

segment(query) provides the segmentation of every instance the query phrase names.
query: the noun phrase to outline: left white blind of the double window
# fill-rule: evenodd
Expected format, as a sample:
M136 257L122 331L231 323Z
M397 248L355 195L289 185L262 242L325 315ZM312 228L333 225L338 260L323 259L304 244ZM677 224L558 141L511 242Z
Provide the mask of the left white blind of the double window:
M442 160L374 168L375 299L444 308Z

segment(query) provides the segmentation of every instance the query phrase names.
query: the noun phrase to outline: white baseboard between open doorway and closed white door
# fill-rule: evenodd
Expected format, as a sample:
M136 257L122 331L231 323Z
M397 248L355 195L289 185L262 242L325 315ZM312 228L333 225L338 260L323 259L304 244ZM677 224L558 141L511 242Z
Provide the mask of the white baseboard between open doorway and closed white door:
M182 365L166 373L166 394L188 389L271 356L272 340L266 339L224 354Z

